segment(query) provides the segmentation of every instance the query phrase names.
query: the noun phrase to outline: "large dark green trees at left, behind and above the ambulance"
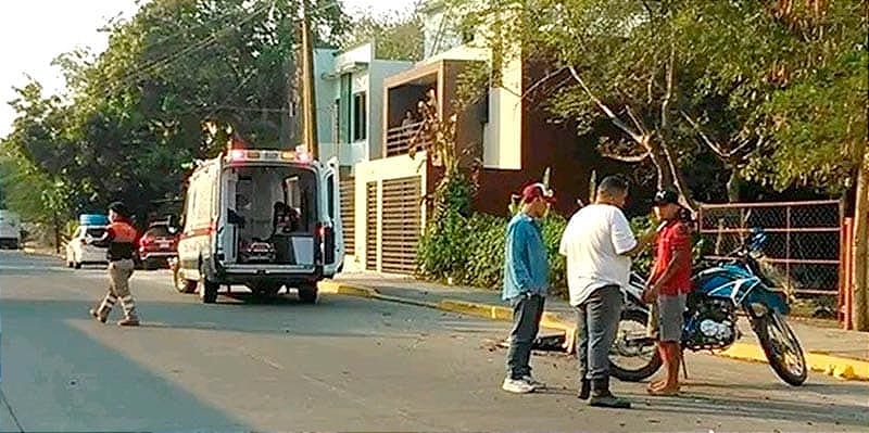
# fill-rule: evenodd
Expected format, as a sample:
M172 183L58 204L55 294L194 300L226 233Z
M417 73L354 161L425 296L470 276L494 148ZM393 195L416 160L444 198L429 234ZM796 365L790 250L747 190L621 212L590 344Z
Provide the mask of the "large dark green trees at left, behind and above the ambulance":
M315 39L333 42L345 30L340 4L313 3ZM215 155L230 135L290 145L299 4L147 2L106 26L104 52L60 55L68 98L28 82L12 103L17 118L0 149L8 205L48 221L124 200L143 216L153 201L179 194L192 160Z

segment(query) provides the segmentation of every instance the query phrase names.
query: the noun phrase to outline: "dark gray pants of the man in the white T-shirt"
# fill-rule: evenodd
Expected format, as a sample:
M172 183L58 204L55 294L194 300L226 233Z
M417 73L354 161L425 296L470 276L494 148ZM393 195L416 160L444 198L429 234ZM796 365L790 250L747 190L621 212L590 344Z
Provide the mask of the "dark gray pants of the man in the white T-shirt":
M625 298L618 285L600 288L577 307L577 358L580 379L609 377L609 348L616 339Z

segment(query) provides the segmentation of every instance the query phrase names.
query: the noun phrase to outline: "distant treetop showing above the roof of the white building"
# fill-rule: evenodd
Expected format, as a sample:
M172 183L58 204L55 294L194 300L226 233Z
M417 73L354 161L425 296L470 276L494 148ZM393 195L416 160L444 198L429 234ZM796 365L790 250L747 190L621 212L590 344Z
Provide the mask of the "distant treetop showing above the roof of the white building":
M377 59L423 60L423 17L416 13L419 1L411 11L392 11L381 15L363 14L348 26L340 47L350 49L375 42Z

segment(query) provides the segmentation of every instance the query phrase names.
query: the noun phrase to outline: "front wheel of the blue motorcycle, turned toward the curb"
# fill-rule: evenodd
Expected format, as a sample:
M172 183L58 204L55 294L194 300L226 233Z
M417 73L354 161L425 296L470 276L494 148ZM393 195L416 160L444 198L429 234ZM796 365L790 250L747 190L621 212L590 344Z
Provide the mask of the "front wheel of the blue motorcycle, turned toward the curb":
M784 317L776 311L768 311L755 319L755 333L776 374L788 384L802 385L808 377L806 358L799 340Z

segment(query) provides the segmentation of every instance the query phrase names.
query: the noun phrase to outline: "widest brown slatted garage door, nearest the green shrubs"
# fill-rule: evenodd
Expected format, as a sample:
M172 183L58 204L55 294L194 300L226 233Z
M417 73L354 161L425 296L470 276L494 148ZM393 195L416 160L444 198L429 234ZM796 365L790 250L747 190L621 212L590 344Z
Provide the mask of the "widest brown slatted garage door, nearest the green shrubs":
M421 229L418 176L383 180L382 270L413 273Z

